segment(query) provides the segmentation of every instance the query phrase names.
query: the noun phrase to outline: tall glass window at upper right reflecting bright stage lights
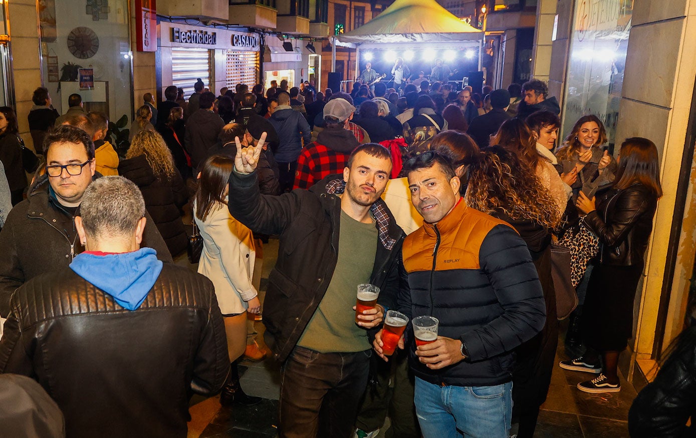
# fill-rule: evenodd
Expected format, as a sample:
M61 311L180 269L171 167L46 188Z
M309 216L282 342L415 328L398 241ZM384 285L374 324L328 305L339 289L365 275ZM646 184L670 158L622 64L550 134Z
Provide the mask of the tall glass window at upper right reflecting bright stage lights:
M609 144L616 142L632 14L633 0L576 1L563 99L563 136L578 118L594 114L604 123Z

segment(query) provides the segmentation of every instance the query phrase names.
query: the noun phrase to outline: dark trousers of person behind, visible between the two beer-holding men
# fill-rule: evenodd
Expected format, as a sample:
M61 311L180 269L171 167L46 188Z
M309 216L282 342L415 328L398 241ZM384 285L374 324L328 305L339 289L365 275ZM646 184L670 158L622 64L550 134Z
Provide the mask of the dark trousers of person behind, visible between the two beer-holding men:
M356 426L365 432L382 427L389 414L391 426L386 438L420 438L420 426L413 405L413 375L409 369L409 353L399 350L389 362L375 357L377 385L367 387Z

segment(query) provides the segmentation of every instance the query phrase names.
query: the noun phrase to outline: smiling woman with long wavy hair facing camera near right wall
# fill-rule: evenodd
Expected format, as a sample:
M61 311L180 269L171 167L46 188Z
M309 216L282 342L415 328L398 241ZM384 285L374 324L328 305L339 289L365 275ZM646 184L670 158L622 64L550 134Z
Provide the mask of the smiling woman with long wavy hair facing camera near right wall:
M586 185L586 191L592 187L593 190L587 194L594 195L595 190L614 181L617 164L614 157L602 147L606 141L604 124L599 117L590 114L575 122L562 147L556 151L558 163L555 168L558 173L568 174L575 170L578 174L578 179L571 184L574 197L578 196L583 185Z

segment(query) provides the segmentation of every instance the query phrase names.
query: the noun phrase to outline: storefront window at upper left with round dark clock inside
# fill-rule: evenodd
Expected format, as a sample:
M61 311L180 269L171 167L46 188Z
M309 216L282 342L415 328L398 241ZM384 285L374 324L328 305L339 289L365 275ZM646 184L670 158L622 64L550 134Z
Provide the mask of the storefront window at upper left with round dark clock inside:
M40 2L43 83L59 113L68 110L68 96L77 93L86 111L102 111L110 120L125 114L130 120L128 10L128 0ZM92 87L80 84L80 67L93 70Z

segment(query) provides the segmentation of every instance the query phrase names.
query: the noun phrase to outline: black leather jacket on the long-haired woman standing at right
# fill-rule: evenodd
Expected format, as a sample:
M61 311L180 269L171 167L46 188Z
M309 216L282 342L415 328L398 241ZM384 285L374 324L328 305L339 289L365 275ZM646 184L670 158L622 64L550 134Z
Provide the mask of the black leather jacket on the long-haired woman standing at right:
M584 220L599 236L599 262L612 266L643 263L656 208L657 197L640 183L598 193L596 210Z

